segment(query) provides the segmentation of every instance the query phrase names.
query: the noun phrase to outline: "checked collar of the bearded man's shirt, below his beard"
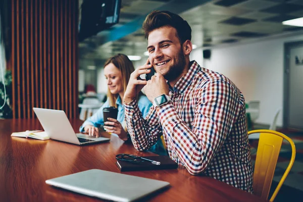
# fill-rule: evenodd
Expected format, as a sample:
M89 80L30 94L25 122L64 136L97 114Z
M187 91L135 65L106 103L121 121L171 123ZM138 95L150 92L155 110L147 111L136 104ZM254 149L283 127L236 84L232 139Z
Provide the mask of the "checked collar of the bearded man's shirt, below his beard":
M190 64L188 72L177 81L174 87L168 85L170 91L182 93L188 88L194 76L201 71L201 67L196 61L191 61Z

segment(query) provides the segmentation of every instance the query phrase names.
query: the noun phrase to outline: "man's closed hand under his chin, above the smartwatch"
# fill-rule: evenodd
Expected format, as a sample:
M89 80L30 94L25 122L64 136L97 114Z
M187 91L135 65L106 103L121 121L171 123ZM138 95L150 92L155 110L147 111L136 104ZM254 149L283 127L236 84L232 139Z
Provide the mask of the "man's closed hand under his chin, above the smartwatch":
M156 73L144 86L144 92L151 103L162 94L169 93L168 84L162 74Z

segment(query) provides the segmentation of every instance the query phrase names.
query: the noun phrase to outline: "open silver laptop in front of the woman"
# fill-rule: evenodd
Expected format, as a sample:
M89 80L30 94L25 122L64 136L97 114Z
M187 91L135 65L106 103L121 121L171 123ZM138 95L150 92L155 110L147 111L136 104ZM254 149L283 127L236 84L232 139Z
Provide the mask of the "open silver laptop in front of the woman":
M78 145L110 140L105 137L91 137L81 133L76 134L64 111L42 108L33 108L33 110L44 131L51 139Z

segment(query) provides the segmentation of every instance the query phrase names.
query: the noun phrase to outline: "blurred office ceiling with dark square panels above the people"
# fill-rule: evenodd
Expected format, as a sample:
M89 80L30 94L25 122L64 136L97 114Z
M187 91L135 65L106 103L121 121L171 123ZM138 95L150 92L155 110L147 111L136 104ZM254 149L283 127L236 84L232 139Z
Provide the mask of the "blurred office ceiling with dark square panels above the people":
M302 0L122 0L119 24L80 42L80 60L104 61L118 53L143 57L141 26L152 10L179 14L191 26L192 43L202 48L303 30L282 25L303 17Z

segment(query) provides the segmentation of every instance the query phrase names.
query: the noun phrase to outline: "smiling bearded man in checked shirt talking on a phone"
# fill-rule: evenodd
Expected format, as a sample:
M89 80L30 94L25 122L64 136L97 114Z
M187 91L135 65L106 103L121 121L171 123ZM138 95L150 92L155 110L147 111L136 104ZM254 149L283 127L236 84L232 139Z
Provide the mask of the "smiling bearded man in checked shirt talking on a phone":
M135 148L146 150L163 134L170 158L190 174L204 174L252 192L240 90L224 75L189 60L191 28L180 16L153 11L143 29L149 58L131 74L124 93L125 119ZM151 67L155 76L137 79ZM153 103L145 119L135 98L143 86Z

